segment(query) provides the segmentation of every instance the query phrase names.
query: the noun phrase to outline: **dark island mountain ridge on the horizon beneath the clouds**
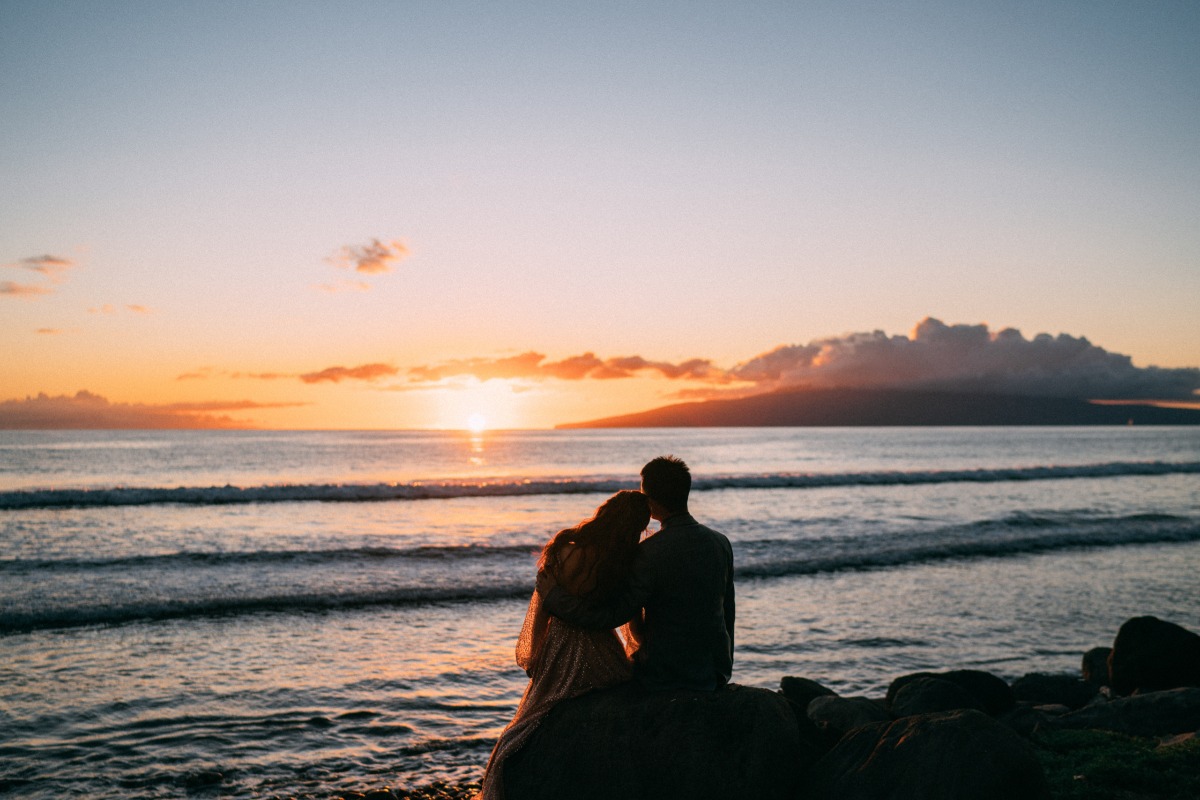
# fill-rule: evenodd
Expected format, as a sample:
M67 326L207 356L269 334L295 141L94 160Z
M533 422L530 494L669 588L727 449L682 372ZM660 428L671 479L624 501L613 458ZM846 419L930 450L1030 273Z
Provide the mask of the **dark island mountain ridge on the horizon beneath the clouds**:
M901 389L780 390L676 403L559 428L1200 425L1200 410L1063 397Z

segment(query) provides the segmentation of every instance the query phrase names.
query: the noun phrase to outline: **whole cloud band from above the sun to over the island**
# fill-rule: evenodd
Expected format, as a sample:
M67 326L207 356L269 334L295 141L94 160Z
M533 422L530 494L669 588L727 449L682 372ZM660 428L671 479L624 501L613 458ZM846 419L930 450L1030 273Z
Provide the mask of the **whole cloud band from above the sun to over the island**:
M785 344L724 369L708 359L679 363L640 355L600 359L583 353L547 361L528 351L413 367L409 383L455 377L478 380L606 380L653 374L690 385L677 397L730 397L780 389L920 389L1086 399L1192 399L1200 369L1135 367L1084 337L1038 333L1031 339L985 324L923 319L907 336L847 333Z

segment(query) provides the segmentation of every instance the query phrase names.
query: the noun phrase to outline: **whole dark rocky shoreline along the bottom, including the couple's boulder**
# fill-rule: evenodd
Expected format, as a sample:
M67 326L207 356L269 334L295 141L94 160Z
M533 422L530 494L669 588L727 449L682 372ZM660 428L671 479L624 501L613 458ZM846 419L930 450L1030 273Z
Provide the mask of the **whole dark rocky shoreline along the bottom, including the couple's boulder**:
M1200 796L1200 636L1126 621L1079 674L1012 684L914 673L881 698L787 676L780 690L640 692L562 703L506 768L506 794L736 800L1182 800ZM338 800L466 800L478 784Z

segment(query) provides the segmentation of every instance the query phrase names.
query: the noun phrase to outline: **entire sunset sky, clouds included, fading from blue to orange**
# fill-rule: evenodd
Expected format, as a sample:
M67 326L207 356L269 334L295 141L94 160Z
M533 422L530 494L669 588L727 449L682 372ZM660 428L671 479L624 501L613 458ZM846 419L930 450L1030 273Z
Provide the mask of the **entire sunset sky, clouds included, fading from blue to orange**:
M0 427L1195 398L1200 4L0 0Z

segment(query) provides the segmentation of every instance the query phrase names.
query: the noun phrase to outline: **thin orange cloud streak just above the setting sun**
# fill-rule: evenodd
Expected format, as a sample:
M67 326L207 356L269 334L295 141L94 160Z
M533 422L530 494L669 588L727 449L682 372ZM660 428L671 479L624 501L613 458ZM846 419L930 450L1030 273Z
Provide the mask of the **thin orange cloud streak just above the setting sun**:
M691 359L680 363L671 363L668 361L649 361L638 355L600 359L589 351L562 361L546 361L544 354L532 350L504 359L461 359L439 365L413 367L408 371L408 378L413 381L437 381L458 375L469 375L479 380L493 378L611 380L632 378L646 372L656 372L671 380L728 381L728 374L707 359Z

